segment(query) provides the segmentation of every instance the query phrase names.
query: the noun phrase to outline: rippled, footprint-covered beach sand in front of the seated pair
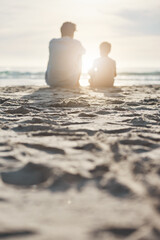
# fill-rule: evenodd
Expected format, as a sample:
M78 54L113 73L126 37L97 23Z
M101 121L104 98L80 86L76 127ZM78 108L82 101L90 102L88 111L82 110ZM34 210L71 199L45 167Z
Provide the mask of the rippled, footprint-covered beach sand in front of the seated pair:
M160 86L0 92L0 239L160 239Z

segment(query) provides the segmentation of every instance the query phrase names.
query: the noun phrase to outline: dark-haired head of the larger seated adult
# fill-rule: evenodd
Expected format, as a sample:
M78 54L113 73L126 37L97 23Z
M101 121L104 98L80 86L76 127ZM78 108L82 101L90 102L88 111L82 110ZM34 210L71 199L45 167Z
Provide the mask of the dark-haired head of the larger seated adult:
M62 37L74 37L74 32L76 31L76 24L72 22L64 22L61 26Z

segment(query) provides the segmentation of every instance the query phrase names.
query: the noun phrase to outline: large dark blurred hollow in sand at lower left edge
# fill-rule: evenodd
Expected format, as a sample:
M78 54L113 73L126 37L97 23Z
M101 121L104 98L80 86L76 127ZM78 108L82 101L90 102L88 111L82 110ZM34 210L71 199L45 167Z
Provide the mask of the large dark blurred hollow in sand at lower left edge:
M39 185L46 182L50 177L50 168L31 162L17 171L1 173L1 178L4 183L17 186Z

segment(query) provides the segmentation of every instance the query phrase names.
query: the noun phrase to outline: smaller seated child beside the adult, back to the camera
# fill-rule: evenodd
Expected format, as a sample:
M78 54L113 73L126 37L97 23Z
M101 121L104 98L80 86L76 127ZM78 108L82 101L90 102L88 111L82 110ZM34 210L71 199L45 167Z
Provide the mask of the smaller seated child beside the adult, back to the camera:
M108 57L111 51L111 44L103 42L100 44L100 58L93 63L89 71L91 87L113 87L116 77L116 62Z

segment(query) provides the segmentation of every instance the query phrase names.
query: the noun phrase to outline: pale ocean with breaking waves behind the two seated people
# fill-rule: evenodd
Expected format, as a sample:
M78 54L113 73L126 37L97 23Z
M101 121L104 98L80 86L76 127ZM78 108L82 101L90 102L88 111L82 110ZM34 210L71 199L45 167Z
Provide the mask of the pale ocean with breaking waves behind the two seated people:
M118 69L115 86L160 84L160 69ZM41 68L0 68L0 86L36 85L44 86L44 71ZM82 74L82 86L88 86L88 74Z

